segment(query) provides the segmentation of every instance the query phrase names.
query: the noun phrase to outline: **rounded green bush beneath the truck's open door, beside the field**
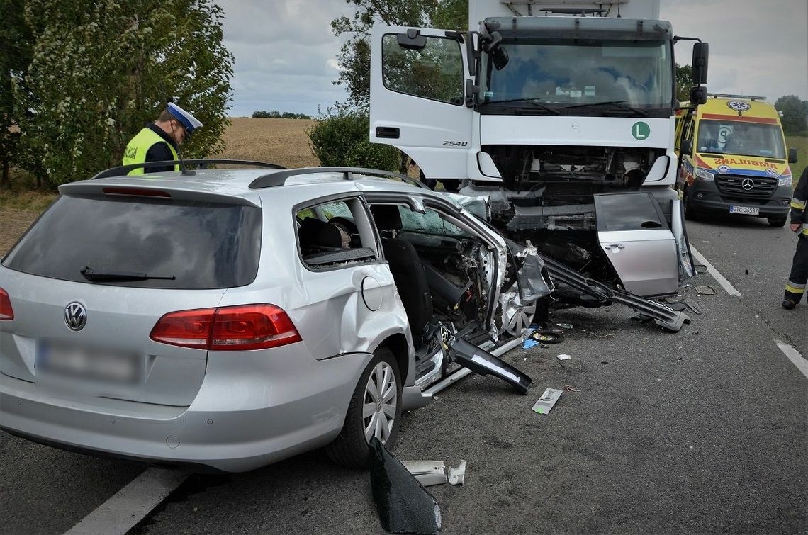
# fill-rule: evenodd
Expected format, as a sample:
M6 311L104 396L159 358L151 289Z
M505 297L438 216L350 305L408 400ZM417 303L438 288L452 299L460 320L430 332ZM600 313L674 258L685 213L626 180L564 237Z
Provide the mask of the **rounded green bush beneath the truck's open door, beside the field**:
M322 166L356 166L398 171L399 150L371 143L368 113L337 103L320 112L317 124L309 128L314 155Z

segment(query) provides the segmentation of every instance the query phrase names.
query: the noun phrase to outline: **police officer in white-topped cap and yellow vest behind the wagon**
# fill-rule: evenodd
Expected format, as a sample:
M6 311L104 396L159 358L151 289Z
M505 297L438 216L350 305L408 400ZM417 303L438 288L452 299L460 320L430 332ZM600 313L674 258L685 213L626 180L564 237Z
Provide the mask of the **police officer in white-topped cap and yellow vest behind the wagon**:
M179 145L186 137L190 137L202 123L190 113L168 103L158 120L146 124L135 137L129 141L124 150L124 166L143 162L175 162ZM160 171L179 171L179 165L163 167L139 167L129 171L129 175L142 175L143 173L157 173Z

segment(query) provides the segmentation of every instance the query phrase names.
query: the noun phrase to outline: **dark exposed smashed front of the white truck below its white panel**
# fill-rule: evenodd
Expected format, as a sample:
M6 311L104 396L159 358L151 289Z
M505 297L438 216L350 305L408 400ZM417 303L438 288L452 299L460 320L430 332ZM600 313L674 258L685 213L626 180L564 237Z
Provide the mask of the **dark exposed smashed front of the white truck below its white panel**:
M503 185L489 190L491 223L517 242L595 280L620 280L600 248L593 196L638 191L664 149L484 145Z

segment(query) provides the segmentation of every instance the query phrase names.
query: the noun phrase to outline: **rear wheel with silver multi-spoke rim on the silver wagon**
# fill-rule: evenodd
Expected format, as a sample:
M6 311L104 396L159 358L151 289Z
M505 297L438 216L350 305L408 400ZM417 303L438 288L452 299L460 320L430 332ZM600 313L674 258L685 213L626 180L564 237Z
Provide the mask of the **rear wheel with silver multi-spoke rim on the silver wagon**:
M380 386L381 397L377 394ZM348 468L367 467L370 453L368 442L372 436L377 436L390 449L398 436L401 398L402 380L398 364L393 352L382 346L374 352L356 385L342 431L334 442L326 446L326 454L331 461ZM375 409L372 408L374 404ZM371 411L368 416L364 415L366 406Z

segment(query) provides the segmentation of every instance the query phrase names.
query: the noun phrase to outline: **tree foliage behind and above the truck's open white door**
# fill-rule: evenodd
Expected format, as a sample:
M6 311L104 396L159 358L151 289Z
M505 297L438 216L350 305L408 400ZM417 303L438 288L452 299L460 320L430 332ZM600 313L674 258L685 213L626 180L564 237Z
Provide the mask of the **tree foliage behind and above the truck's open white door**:
M342 70L335 83L346 86L348 102L368 107L370 99L370 32L373 23L393 26L442 27L465 31L468 0L345 0L354 8L352 18L331 21L335 36L347 34L339 51Z

